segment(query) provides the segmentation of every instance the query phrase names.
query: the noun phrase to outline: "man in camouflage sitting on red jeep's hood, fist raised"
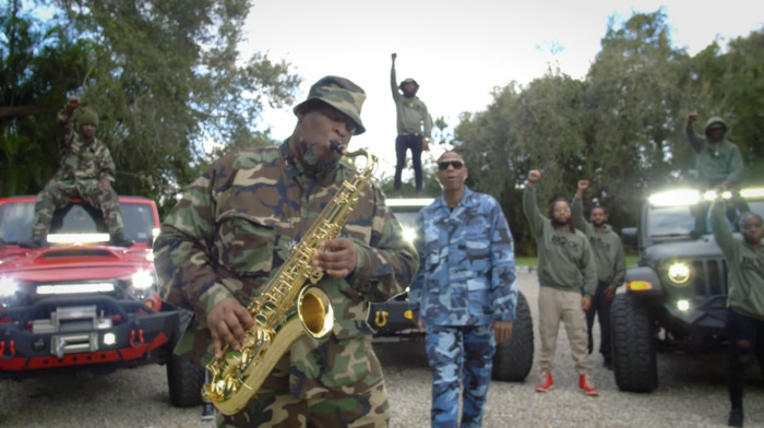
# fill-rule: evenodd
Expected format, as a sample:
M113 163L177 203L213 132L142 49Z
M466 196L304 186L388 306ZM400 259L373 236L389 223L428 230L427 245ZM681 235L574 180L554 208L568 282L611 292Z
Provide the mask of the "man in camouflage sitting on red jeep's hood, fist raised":
M119 198L111 188L115 163L109 148L95 136L98 114L88 107L80 108L80 98L72 96L58 114L59 168L53 178L37 193L32 239L21 242L24 248L47 245L48 230L56 209L82 198L99 209L111 236L111 245L130 247L124 237ZM75 132L75 130L77 132Z

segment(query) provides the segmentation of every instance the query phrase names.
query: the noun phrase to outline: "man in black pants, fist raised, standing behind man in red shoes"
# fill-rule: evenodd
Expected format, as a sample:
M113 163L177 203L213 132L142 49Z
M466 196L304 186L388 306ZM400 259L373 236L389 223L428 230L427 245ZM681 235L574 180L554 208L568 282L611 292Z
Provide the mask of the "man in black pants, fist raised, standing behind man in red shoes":
M623 285L626 275L626 261L623 254L621 237L607 224L608 213L605 206L595 205L589 214L592 223L584 217L584 192L589 188L589 180L580 180L571 211L573 223L589 239L592 254L597 265L597 290L592 298L592 306L586 311L589 354L594 349L592 328L594 316L599 319L599 353L602 354L604 367L612 370L612 352L610 349L610 306L618 287Z

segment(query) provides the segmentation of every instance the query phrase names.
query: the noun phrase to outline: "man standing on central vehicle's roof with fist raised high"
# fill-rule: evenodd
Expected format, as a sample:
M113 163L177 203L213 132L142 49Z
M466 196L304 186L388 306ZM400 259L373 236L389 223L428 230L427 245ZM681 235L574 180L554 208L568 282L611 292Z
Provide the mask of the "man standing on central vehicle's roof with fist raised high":
M427 152L432 131L432 118L427 111L425 102L417 97L419 84L414 79L406 79L398 85L395 76L395 58L393 54L393 67L390 69L390 87L393 91L395 111L397 116L398 136L395 139L395 178L393 180L394 195L401 197L401 176L406 165L406 152L411 151L411 164L414 166L414 185L417 195L421 197L421 152ZM403 92L403 95L401 92Z

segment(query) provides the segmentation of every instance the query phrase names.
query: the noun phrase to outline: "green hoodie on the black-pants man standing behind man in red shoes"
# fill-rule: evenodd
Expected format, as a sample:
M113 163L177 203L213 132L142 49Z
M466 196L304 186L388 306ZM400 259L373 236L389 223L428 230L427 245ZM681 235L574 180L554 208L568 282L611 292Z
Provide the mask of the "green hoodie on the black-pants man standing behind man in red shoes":
M626 276L626 259L623 254L621 237L608 224L605 225L604 230L598 230L587 222L584 217L584 203L576 197L573 197L573 203L571 203L571 215L575 227L584 230L589 239L592 253L597 262L597 280L600 283L614 285L616 288L623 285Z

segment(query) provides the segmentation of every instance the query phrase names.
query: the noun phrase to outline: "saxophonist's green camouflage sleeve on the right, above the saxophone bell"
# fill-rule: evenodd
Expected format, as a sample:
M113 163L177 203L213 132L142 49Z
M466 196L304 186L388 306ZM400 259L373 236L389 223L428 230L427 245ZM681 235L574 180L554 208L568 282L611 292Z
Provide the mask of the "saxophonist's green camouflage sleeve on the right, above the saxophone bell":
M381 190L375 186L373 189L374 201L383 201ZM371 245L356 241L358 264L348 277L351 286L372 302L387 301L403 293L419 266L417 251L404 239L401 224L383 202L377 206Z

